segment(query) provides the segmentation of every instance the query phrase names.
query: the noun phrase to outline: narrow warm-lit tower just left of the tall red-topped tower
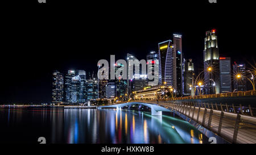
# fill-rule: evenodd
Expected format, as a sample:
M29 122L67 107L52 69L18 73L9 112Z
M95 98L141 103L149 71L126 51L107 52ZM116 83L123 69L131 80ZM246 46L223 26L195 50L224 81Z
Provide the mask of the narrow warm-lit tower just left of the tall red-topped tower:
M185 62L185 73L184 73L184 91L185 95L191 95L192 93L192 78L194 73L194 64L192 62L192 59L188 59Z

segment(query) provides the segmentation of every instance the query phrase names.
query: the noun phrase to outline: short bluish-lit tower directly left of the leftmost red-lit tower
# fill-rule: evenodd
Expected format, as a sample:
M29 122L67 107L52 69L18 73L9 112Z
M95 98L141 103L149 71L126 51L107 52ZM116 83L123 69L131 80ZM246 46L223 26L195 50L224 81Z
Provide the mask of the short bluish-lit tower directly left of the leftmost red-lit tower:
M86 80L87 100L98 98L98 81L95 77Z

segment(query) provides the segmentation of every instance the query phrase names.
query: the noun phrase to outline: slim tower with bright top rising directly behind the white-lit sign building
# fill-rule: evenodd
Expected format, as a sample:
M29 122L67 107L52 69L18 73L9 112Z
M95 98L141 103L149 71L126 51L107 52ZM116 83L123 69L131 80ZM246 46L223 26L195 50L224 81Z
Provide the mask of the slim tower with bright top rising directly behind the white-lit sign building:
M138 66L139 64L133 64L132 61L136 60L137 58L134 57L133 55L131 55L130 53L127 53L127 94L128 96L131 93L131 79L129 79L129 77L133 77L133 75L135 74L135 66ZM133 66L133 74L130 75L130 70L129 68L131 68L131 66Z

